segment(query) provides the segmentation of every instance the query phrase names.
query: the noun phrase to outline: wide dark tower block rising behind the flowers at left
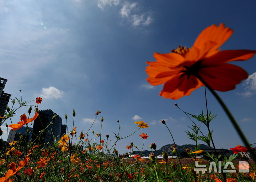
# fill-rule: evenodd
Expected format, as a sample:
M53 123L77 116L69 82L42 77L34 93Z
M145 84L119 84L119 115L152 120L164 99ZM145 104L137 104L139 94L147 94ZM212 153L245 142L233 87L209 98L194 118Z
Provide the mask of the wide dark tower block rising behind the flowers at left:
M56 118L52 120L53 116L56 115ZM41 120L41 121L40 121ZM50 125L50 123L52 124ZM48 126L48 127L47 127ZM41 134L40 131L46 129L45 132ZM51 109L39 110L39 116L34 120L32 141L37 144L44 144L48 142L53 142L54 138L56 141L60 140L62 129L62 119L56 113L53 113ZM38 137L41 134L40 137Z

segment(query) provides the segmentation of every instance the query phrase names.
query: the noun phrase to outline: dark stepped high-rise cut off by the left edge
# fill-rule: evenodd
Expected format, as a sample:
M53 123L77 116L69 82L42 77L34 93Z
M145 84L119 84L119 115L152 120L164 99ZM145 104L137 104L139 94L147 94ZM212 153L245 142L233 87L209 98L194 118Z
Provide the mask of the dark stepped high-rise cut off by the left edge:
M5 113L5 109L7 107L7 104L9 102L9 99L11 97L11 94L4 93L4 87L6 84L7 79L0 77L0 115L3 116ZM2 118L0 118L0 121Z

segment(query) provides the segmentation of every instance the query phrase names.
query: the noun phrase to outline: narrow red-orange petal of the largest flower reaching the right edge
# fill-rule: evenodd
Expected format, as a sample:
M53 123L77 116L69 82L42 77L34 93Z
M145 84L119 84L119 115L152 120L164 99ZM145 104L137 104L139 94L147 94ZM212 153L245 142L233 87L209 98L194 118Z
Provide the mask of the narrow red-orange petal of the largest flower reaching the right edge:
M203 66L218 66L230 61L245 61L254 56L256 51L251 50L226 50L220 51L213 56L205 58L202 62Z

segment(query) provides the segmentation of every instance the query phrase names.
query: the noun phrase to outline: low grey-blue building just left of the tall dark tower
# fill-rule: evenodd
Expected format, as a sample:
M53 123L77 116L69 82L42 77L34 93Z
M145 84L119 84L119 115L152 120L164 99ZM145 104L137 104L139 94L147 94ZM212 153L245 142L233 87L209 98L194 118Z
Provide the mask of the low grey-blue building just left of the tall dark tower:
M32 131L33 128L30 127L30 130ZM26 126L21 127L17 130L11 130L8 135L8 143L11 143L13 140L18 141L18 138L22 136L22 140L25 140L26 142L29 142L31 139L32 132L30 131ZM20 135L19 135L20 134Z

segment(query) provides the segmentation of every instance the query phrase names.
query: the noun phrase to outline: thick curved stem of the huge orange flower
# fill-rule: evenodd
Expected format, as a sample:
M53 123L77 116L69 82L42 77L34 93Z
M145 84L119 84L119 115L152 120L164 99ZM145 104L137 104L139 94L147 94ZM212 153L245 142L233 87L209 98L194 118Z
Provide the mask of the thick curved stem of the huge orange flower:
M254 159L254 161L256 162L256 153L253 149L251 149L249 142L247 141L244 133L242 132L242 130L240 129L238 123L236 122L236 120L234 119L233 115L230 113L229 109L226 107L226 105L224 104L224 102L222 101L222 99L219 97L219 95L206 83L206 81L204 81L200 75L196 74L195 75L209 90L210 92L212 92L212 94L214 95L214 97L217 99L217 101L219 102L219 104L222 106L222 108L224 109L226 115L228 115L231 123L233 124L233 126L235 127L236 132L238 132L238 135L240 136L241 140L244 142L245 146L247 147L247 149L249 150L250 154L252 155L252 158Z

